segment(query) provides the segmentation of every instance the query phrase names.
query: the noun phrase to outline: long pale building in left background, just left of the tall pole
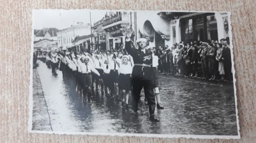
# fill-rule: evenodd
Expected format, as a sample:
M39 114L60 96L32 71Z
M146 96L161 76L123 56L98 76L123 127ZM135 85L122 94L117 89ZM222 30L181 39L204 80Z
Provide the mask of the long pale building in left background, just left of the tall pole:
M62 29L57 33L58 48L60 50L67 50L74 47L76 45L76 42L74 42L74 40L77 36L91 34L90 24L83 24L81 22L77 22L77 24L78 25L72 25L66 29Z

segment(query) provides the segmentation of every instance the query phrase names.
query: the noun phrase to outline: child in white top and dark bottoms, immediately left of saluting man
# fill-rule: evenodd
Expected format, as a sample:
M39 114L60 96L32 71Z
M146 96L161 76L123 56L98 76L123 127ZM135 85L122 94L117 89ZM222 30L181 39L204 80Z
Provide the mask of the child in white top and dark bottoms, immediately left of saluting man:
M120 90L122 90L122 105L125 105L125 108L128 109L128 99L129 93L131 93L131 73L132 73L132 64L129 62L129 56L122 56L122 62L120 63L119 68L119 77L118 84Z

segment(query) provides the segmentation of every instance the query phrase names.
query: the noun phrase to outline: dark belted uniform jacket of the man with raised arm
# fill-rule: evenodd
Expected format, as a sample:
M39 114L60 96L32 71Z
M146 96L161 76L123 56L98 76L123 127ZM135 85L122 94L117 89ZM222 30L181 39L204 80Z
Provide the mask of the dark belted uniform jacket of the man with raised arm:
M132 56L134 61L132 77L151 79L154 74L152 70L152 52L146 50L144 53L140 49L132 48L132 41L125 41L125 50ZM136 64L146 64L147 66L138 66Z

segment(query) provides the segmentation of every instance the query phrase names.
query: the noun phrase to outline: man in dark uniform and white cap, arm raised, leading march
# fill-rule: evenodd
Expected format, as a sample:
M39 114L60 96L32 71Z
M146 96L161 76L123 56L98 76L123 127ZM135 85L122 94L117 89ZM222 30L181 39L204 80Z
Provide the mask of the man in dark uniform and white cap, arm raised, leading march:
M150 120L159 121L159 118L154 114L156 108L155 94L154 94L154 80L152 67L152 52L146 51L147 40L140 38L136 41L138 49L132 48L131 32L127 33L125 40L125 50L132 56L134 60L134 67L132 68L132 96L134 103L132 109L138 113L138 103L140 100L141 89L145 91L145 98L148 101Z

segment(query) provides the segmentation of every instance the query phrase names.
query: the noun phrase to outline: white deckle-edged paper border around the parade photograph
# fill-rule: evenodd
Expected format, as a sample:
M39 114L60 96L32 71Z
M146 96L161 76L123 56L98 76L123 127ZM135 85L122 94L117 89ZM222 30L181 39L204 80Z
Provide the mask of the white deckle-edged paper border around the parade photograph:
M101 132L52 132L52 131L35 131L32 130L32 119L33 119L33 33L34 33L34 11L36 10L64 10L64 9L33 9L32 10L32 29L31 29L31 52L30 52L30 76L29 76L29 120L28 120L28 132L29 133L49 133L49 134L64 134L64 135L109 135L109 136L135 136L135 137L159 137L159 138L187 138L187 139L240 139L240 126L239 116L237 110L237 90L236 90L236 70L234 68L234 47L233 47L233 36L231 26L231 12L230 11L195 11L195 10L100 10L100 11L159 11L159 12L198 12L198 13L227 13L228 14L228 33L230 38L230 53L232 59L232 76L234 86L234 99L236 105L236 121L237 121L237 135L172 135L172 134L147 134L147 133L101 133ZM98 11L99 9L70 9L72 10L88 10ZM67 10L68 11L68 10Z

